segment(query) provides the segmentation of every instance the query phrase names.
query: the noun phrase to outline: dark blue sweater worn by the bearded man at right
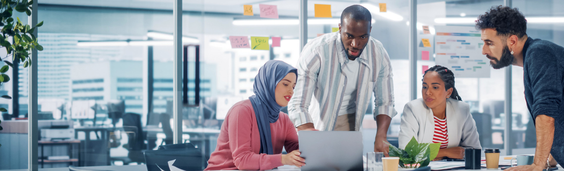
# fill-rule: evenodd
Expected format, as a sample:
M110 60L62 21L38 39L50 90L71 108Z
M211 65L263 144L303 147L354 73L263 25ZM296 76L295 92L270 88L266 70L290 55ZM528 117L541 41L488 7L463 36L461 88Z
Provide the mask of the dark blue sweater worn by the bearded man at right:
M550 154L564 165L564 47L527 38L523 47L523 80L532 118L538 115L554 118Z

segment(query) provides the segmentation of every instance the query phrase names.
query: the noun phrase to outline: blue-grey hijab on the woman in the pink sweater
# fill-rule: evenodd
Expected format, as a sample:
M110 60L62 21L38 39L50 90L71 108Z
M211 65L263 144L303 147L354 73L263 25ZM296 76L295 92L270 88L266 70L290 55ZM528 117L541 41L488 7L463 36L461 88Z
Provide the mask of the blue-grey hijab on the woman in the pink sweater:
M254 114L257 116L258 132L261 136L261 151L259 154L274 154L272 149L272 135L270 123L275 123L280 115L282 106L276 103L274 90L280 80L288 73L296 73L297 69L283 61L270 60L258 70L254 78L253 96L249 97L253 104Z

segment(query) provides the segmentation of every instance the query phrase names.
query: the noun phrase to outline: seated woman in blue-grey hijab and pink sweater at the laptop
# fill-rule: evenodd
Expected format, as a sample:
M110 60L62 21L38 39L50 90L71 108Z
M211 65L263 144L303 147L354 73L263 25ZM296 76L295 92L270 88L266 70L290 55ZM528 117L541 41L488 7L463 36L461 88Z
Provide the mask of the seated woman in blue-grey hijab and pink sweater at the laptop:
M237 102L228 111L205 170L269 170L282 165L302 167L298 134L288 114L296 86L297 69L270 60L258 71L255 95ZM285 147L288 154L281 154Z

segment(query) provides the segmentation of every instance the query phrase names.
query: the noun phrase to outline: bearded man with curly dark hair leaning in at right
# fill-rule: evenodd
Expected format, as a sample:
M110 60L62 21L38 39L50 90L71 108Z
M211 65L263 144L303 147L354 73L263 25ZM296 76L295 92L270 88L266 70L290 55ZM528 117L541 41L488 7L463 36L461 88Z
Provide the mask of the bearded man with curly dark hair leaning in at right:
M479 16L476 28L482 32L482 54L492 68L523 67L525 100L535 121L534 163L507 170L546 169L550 154L564 164L564 47L528 37L527 20L517 8L492 7Z

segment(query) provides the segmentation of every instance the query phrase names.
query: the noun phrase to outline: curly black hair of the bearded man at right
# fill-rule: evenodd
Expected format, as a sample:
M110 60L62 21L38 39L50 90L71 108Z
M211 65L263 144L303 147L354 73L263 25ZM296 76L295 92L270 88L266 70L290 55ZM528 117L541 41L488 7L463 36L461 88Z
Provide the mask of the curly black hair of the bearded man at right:
M497 35L527 35L527 20L518 8L493 6L490 11L480 15L476 20L476 29L495 29Z

